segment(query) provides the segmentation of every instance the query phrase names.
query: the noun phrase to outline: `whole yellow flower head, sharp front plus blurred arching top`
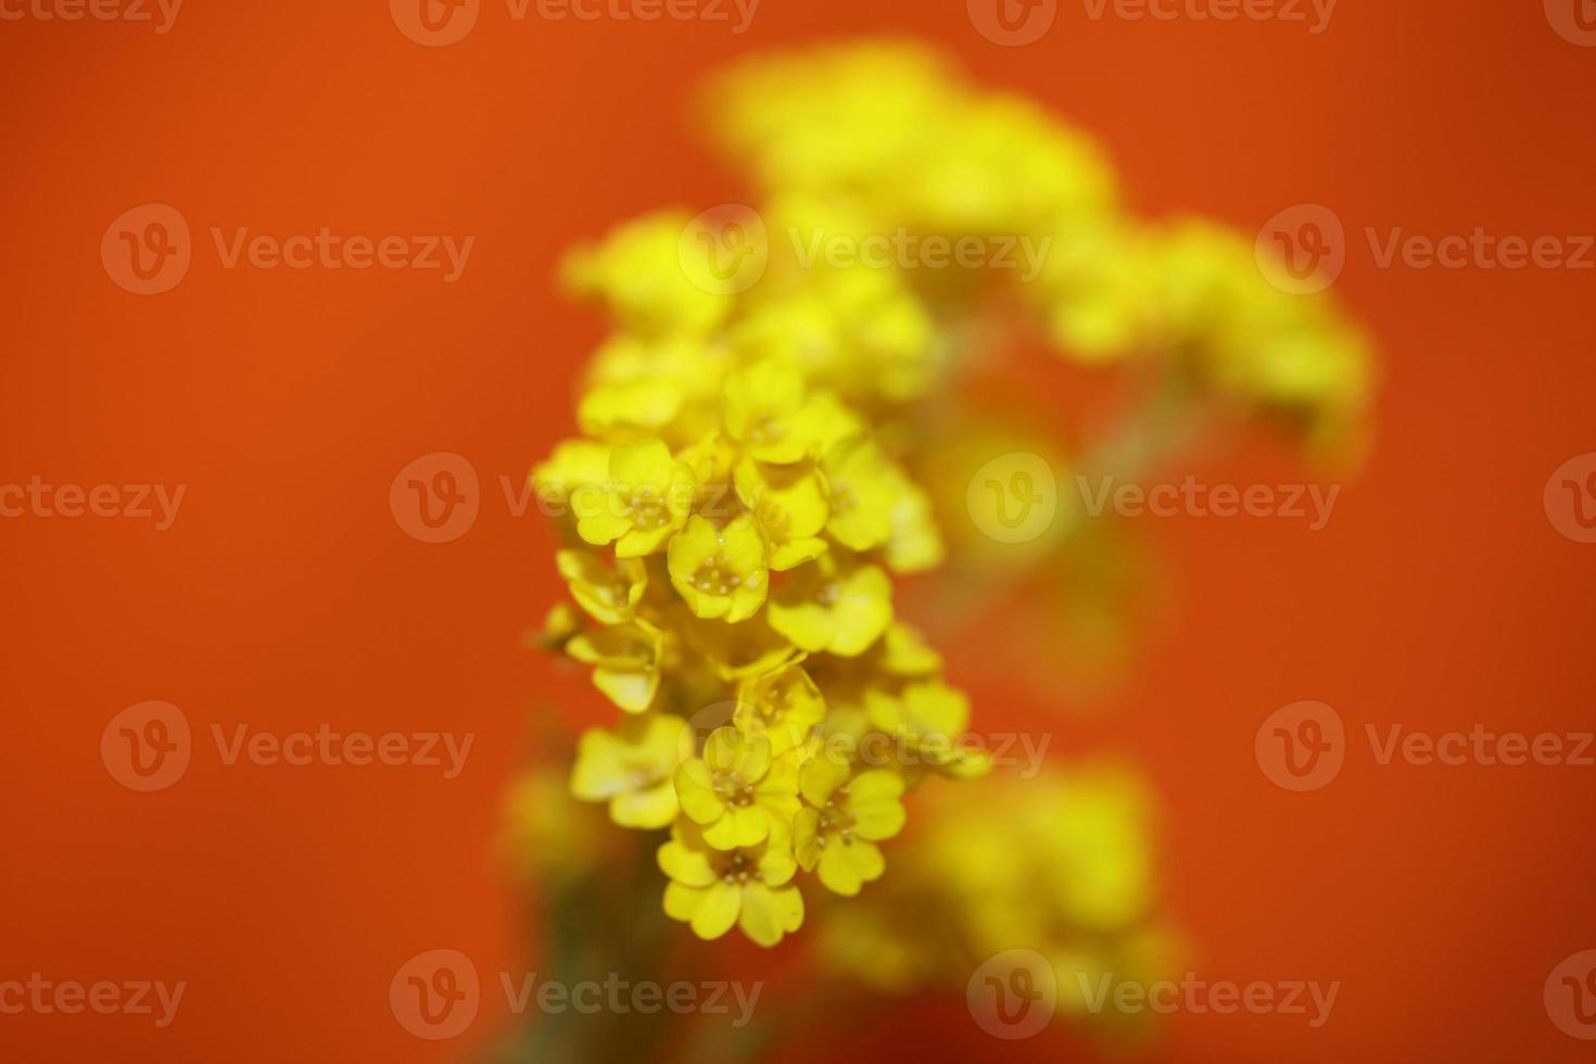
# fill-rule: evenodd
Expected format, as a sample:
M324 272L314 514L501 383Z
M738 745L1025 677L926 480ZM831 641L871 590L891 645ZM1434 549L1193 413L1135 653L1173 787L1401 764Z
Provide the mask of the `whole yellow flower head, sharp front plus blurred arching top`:
M894 589L945 554L913 440L982 294L1017 282L816 247L1031 239L1050 252L1018 303L1061 353L1162 359L1315 432L1363 402L1366 370L1357 335L1269 289L1235 238L1133 222L1090 140L918 48L758 61L709 99L760 207L664 211L570 257L614 330L581 435L533 485L578 608L546 641L619 710L581 739L571 793L669 830L670 917L774 946L803 924L803 876L860 893L910 791L988 769Z

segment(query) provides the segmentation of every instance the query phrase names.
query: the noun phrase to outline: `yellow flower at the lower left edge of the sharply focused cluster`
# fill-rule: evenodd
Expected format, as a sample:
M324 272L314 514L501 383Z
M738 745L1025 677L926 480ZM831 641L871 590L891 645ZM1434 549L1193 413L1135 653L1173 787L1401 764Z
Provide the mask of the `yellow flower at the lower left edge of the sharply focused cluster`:
M621 721L619 731L594 727L583 734L571 770L571 794L586 802L610 802L610 818L622 828L666 828L675 818L674 782L681 761L680 716L650 713Z

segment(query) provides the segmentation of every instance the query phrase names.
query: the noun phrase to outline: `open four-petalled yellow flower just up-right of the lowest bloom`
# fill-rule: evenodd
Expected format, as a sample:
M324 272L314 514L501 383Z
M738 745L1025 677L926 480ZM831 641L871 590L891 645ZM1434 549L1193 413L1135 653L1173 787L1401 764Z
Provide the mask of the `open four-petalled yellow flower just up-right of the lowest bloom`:
M903 830L903 778L884 769L854 774L846 761L819 755L798 772L806 802L793 817L793 850L806 871L841 895L881 877L876 842Z

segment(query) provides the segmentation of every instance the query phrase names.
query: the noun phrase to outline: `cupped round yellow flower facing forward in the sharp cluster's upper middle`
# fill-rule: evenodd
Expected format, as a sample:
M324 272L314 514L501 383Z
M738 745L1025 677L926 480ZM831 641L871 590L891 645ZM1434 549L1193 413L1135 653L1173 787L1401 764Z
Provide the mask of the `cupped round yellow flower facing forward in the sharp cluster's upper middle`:
M670 585L699 617L747 621L769 585L764 538L744 514L725 528L694 515L670 541Z

